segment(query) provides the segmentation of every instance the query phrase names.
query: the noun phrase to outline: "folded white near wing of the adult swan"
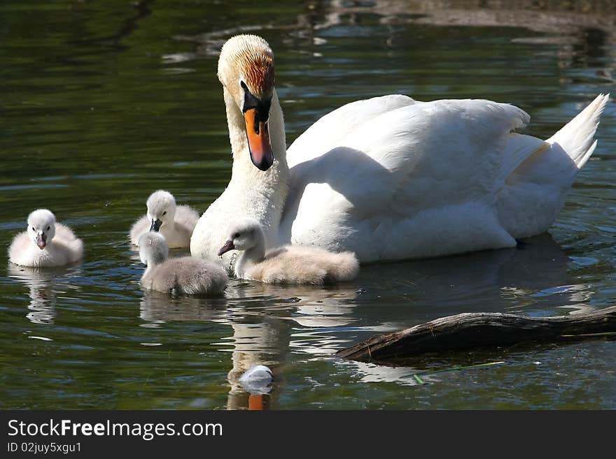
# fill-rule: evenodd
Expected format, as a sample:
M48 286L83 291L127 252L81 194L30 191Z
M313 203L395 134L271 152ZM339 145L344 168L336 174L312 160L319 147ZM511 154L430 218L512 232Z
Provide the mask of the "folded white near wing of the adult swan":
M365 114L365 119L369 122L346 136L302 139L314 147L295 154L314 157L291 168L290 205L314 193L321 203L316 210L331 215L332 209L323 207L340 205L339 199L328 196L328 190L334 190L354 212L378 213L394 204L409 216L411 207L482 200L493 194L510 132L525 126L529 117L503 103L442 100L405 105L374 117ZM330 129L337 131L334 125ZM392 199L398 201L391 203Z

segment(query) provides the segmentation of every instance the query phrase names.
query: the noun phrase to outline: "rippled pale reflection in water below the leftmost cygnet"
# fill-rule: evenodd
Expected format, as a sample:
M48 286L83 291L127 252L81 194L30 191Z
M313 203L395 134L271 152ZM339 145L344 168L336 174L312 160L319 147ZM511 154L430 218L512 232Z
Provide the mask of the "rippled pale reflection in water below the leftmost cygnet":
M22 282L29 289L27 319L32 323L51 324L56 312L55 280L65 277L66 268L29 268L8 263L8 277Z

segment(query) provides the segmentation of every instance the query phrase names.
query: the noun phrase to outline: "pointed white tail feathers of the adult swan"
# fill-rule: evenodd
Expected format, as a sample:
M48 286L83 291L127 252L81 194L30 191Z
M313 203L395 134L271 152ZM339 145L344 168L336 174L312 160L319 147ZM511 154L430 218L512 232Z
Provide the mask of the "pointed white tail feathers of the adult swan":
M587 108L584 108L575 118L565 124L554 136L547 139L549 143L559 144L580 170L588 161L596 147L594 134L599 124L599 118L610 94L599 94ZM577 172L577 171L576 171Z

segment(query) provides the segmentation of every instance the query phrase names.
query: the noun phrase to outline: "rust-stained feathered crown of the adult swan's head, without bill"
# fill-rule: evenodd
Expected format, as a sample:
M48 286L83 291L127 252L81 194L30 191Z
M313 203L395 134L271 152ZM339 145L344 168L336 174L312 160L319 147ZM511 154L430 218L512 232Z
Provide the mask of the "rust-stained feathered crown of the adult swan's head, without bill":
M267 41L256 35L230 38L218 58L218 80L241 101L241 82L258 99L268 99L274 89L274 54Z

